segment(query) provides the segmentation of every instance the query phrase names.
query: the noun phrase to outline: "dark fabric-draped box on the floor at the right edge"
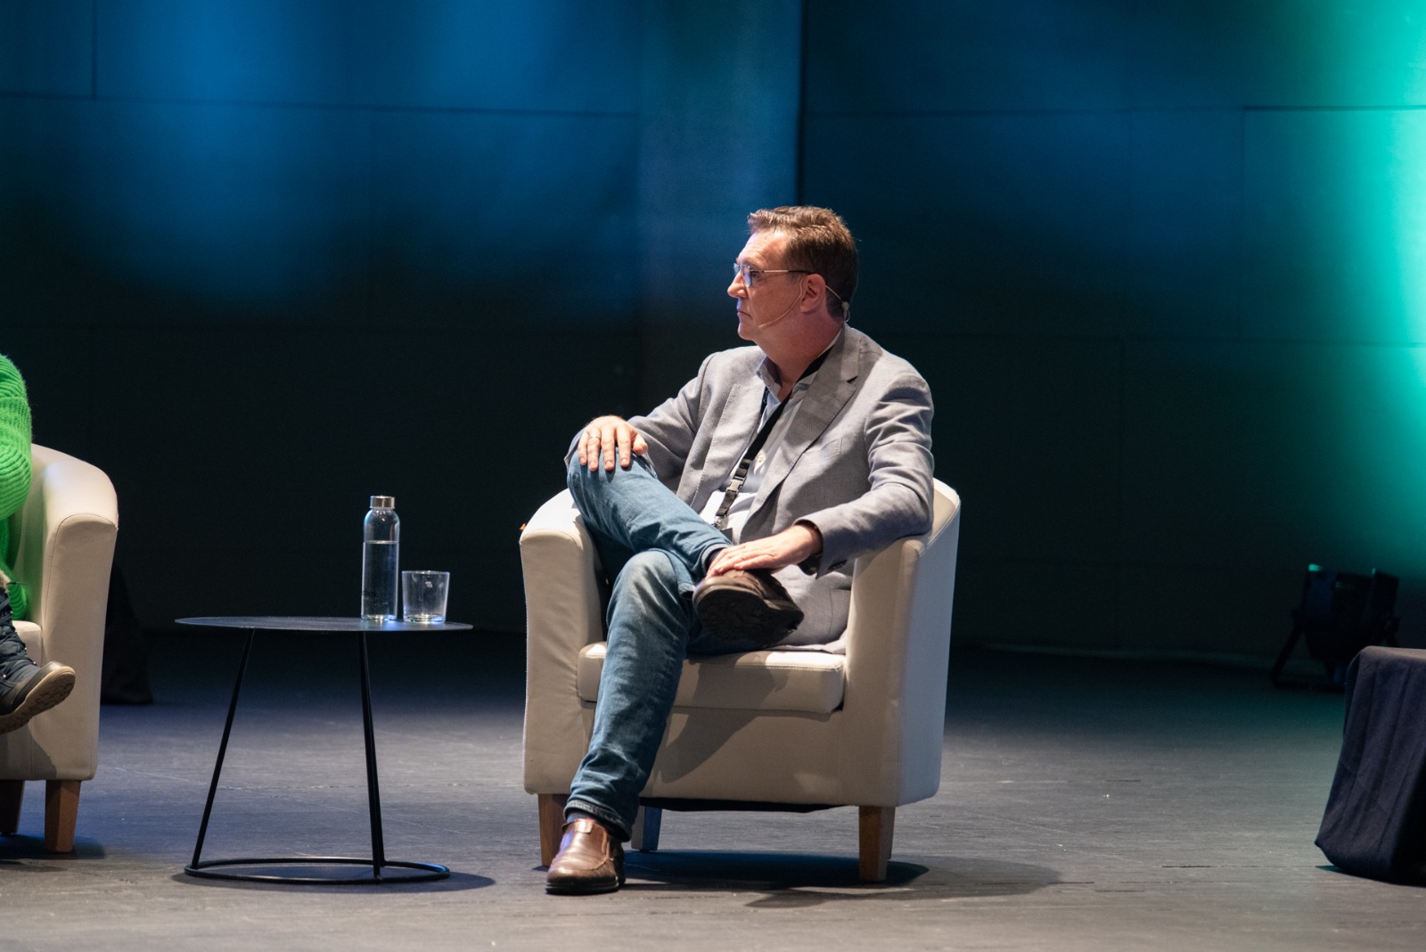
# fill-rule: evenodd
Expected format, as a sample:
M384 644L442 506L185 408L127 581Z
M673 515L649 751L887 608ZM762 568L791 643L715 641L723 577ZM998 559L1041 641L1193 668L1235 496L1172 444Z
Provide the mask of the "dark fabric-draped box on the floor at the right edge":
M1316 842L1345 872L1426 882L1426 650L1368 647L1348 667L1342 755Z

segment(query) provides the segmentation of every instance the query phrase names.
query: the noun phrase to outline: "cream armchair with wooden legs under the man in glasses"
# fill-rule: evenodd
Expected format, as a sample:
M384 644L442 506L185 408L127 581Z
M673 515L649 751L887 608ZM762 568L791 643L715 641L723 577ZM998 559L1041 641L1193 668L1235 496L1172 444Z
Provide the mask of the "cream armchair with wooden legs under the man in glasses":
M633 847L657 847L660 808L860 807L860 872L886 878L896 808L941 780L960 497L935 482L931 532L857 560L846 653L690 658L643 790ZM540 861L589 745L605 654L597 556L569 493L520 534L528 661L525 790Z

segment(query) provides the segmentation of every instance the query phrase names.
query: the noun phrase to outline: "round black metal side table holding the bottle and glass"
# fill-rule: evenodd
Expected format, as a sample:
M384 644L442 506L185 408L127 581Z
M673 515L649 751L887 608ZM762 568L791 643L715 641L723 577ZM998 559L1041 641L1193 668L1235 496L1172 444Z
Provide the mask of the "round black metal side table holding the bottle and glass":
M371 666L366 660L366 634L376 633L426 633L426 631L469 631L469 624L458 621L443 621L439 624L415 624L408 621L366 621L365 619L324 619L307 616L237 616L211 619L178 619L178 624L193 624L208 628L244 628L248 640L242 647L242 660L238 663L238 678L232 685L232 701L228 704L228 720L222 725L222 741L218 744L218 761L212 765L212 782L208 785L208 802L202 808L202 824L198 827L198 842L193 848L193 862L184 866L190 876L208 879L245 879L250 882L289 882L289 884L319 884L319 885L368 885L376 882L429 882L443 879L451 875L446 866L432 862L396 862L386 859L386 848L381 832L381 792L376 785L376 738L371 725ZM265 857L244 859L207 859L201 858L202 841L208 834L208 818L212 815L212 798L218 792L218 774L222 772L222 758L228 751L228 735L232 733L232 715L238 710L238 693L242 690L242 676L248 667L248 656L252 653L252 641L257 633L287 631L319 633L319 634L355 634L356 650L361 660L361 710L362 728L366 737L366 809L371 818L371 858L356 857ZM272 874L244 872L228 866L274 866L274 865L355 865L371 866L371 874L359 876L279 876ZM389 871L414 871L389 875Z

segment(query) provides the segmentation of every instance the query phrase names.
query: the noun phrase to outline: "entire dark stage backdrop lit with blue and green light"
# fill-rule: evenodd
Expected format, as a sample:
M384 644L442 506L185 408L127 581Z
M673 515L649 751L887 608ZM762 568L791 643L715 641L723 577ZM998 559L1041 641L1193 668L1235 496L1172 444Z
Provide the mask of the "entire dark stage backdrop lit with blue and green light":
M841 211L937 395L957 638L1268 656L1426 556L1419 4L3 0L0 352L141 620L355 611L366 496L522 623L569 435Z

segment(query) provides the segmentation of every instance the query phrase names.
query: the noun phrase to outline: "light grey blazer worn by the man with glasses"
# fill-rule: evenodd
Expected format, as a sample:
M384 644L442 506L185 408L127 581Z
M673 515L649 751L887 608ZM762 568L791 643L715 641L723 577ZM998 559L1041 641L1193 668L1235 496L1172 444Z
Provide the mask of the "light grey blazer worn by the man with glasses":
M756 346L713 353L677 396L629 422L659 479L694 510L717 492L757 429ZM847 627L851 564L931 526L931 390L910 363L843 329L769 463L739 542L794 522L821 532L816 573L777 573L806 613L784 644L823 644Z

